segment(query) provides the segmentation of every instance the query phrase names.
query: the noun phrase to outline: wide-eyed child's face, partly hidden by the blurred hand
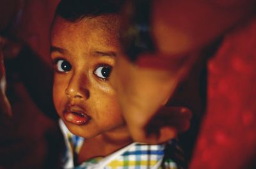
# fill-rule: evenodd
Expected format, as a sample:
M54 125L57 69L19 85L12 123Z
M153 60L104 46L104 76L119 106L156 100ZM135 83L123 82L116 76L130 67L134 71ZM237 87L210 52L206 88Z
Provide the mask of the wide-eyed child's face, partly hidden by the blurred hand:
M54 105L75 135L90 138L125 129L115 91L108 80L119 53L118 29L115 16L79 22L61 17L54 20Z

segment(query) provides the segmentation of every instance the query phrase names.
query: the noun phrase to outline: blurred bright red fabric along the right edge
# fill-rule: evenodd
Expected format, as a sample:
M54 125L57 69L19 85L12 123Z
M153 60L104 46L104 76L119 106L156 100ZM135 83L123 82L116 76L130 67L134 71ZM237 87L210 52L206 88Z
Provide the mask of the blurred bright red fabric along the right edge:
M238 169L255 161L255 68L256 20L253 20L228 34L209 61L207 112L191 169Z

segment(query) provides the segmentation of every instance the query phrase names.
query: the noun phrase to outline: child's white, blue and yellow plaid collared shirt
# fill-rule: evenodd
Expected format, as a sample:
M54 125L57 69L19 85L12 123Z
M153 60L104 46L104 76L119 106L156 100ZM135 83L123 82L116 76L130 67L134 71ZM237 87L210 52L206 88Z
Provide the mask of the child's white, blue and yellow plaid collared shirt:
M147 145L131 143L104 158L93 158L74 166L74 158L83 145L84 138L73 135L60 121L67 150L63 156L63 168L76 169L178 169L180 167L170 158L164 158L165 144ZM164 159L164 161L163 161ZM164 167L163 167L164 166Z

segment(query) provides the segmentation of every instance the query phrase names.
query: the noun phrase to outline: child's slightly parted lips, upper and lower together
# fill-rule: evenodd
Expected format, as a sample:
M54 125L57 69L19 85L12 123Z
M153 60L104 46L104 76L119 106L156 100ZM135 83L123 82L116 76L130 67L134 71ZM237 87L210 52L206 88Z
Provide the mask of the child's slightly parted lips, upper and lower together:
M87 124L91 117L84 113L83 108L78 106L67 106L63 112L63 117L67 122L83 125Z

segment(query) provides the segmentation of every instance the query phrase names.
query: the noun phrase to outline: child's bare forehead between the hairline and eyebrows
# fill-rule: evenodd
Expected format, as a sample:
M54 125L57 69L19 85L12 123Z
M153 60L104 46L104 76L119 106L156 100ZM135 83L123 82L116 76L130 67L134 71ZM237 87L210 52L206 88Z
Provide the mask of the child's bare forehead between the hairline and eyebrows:
M83 18L77 22L57 16L52 25L52 45L118 47L120 19L117 15Z

